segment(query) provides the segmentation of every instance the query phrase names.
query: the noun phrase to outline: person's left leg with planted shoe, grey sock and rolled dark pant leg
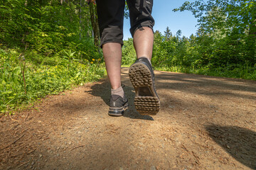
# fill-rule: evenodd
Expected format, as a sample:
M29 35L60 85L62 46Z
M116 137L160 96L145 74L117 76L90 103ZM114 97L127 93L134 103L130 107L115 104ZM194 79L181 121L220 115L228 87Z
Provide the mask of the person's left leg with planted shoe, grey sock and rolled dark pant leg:
M121 116L128 108L128 100L121 86L121 58L123 45L124 0L96 0L102 47L111 97L109 115Z

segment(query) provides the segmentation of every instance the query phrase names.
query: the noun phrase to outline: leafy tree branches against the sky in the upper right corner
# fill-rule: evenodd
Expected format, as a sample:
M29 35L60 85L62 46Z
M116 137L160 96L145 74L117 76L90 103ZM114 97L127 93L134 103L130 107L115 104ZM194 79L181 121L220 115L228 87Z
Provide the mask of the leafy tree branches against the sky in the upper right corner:
M181 7L174 9L186 10L198 18L198 37L213 39L213 46L217 45L219 40L219 44L227 47L225 55L228 60L238 63L238 58L241 57L242 64L249 62L250 66L253 66L256 63L256 1L186 1ZM235 57L237 52L240 56Z

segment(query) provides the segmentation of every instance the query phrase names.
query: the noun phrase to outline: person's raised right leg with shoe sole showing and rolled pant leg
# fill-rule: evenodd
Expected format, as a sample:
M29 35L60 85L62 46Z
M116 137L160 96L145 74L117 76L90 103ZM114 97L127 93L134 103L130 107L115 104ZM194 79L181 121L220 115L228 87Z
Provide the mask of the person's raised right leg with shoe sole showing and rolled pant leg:
M127 0L130 12L131 33L138 60L129 67L129 78L134 86L134 105L145 115L159 112L160 101L154 84L151 57L154 41L154 18L151 16L153 0Z

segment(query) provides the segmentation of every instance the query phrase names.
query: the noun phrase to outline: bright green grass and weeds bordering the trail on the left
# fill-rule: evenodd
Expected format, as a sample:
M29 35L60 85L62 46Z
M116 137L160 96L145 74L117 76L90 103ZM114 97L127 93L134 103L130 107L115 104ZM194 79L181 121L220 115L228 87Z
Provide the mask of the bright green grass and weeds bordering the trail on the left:
M33 104L40 98L73 86L97 81L105 74L100 60L46 57L35 52L19 57L18 50L0 49L0 113Z

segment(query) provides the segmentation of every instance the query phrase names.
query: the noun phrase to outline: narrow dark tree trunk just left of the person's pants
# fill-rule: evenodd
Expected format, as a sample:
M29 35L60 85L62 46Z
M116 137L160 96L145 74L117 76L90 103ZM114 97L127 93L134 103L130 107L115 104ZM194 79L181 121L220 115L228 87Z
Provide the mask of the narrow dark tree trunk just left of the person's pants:
M92 30L93 30L93 35L94 35L94 44L95 44L95 47L100 49L100 28L99 28L99 24L97 21L96 6L95 6L95 4L90 3L89 8L90 8L90 20L92 23Z

